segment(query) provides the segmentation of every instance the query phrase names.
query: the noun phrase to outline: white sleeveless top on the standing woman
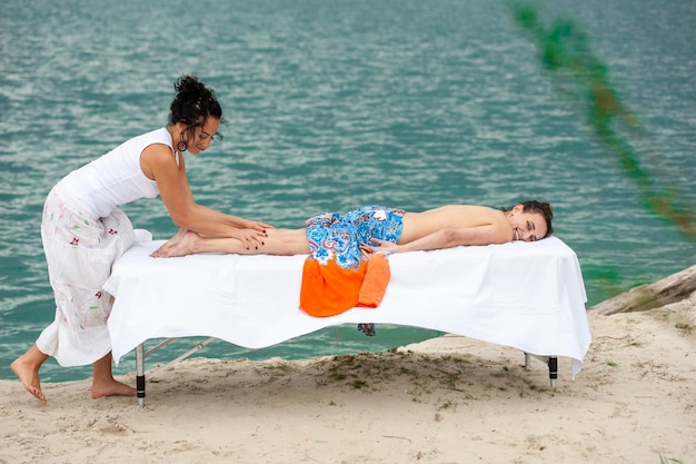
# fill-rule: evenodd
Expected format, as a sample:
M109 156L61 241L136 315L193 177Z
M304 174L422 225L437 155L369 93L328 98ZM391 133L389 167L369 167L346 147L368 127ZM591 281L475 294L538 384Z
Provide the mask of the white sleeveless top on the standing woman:
M60 180L54 190L95 218L107 217L118 206L139 198L155 198L159 188L140 168L142 150L152 144L167 145L173 150L166 128L133 137L92 162L73 170Z

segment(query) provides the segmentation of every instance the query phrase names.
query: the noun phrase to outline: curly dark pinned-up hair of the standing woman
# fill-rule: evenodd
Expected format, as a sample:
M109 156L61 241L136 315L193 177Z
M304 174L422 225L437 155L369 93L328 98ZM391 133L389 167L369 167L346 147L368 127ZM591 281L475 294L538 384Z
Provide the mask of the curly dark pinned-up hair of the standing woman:
M175 82L175 99L169 106L169 126L181 122L186 126L185 142L193 137L197 127L203 127L208 118L212 117L222 122L222 108L215 96L215 91L196 76L181 76ZM222 138L219 134L216 138Z

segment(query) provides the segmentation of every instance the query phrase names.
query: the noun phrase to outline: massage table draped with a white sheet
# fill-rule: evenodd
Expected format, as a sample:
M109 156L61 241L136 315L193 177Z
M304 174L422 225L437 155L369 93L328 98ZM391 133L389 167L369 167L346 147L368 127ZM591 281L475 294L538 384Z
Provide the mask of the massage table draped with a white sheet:
M136 349L141 406L151 353L143 344L156 338L207 336L206 344L264 348L344 324L422 327L518 348L526 367L529 356L548 364L551 388L558 356L571 359L575 378L589 347L580 266L556 237L390 255L381 304L330 317L299 308L306 256L151 258L163 241L141 230L138 237L115 263L105 290L115 296L108 320L113 359L118 365Z

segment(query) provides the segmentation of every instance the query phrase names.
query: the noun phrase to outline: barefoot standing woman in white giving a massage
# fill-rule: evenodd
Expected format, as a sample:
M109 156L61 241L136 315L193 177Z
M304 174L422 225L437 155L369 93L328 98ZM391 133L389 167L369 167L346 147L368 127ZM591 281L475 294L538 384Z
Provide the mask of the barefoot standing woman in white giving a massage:
M118 207L161 197L172 221L207 237L262 244L271 226L197 205L183 154L199 155L218 136L222 109L212 89L192 76L175 83L167 127L125 141L68 174L49 192L41 237L56 297L56 319L11 367L24 388L46 397L39 369L49 356L61 366L92 364L92 397L135 395L113 378L107 319L113 297L101 289L111 265L135 240L133 227Z

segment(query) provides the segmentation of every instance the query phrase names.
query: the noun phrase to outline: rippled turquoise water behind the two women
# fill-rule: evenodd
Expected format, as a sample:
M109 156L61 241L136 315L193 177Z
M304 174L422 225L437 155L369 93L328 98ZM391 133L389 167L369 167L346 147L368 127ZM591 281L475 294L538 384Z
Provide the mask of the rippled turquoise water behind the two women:
M696 3L547 8L587 32L696 205ZM225 140L188 162L203 205L298 227L370 203L418 210L546 199L557 236L578 254L589 304L696 261L695 246L646 213L615 157L553 92L504 2L3 0L0 70L0 378L13 378L9 363L53 317L39 235L47 192L163 126L182 73L217 90L227 119ZM156 238L175 233L158 199L125 209ZM438 334L358 335L341 327L257 352L216 343L205 354L297 358ZM117 372L133 368L129 356ZM90 373L51 361L42 379Z

